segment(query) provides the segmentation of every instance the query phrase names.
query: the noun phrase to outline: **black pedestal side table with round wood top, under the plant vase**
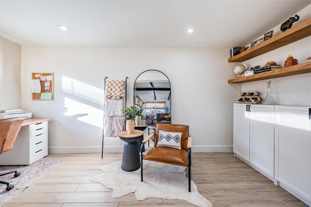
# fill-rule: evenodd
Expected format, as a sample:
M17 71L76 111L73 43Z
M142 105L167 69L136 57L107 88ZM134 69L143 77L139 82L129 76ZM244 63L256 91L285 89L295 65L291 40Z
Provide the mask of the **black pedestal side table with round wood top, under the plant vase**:
M138 139L143 138L143 131L134 129L134 133L128 134L122 131L118 134L124 141L121 169L126 172L136 171L140 168Z

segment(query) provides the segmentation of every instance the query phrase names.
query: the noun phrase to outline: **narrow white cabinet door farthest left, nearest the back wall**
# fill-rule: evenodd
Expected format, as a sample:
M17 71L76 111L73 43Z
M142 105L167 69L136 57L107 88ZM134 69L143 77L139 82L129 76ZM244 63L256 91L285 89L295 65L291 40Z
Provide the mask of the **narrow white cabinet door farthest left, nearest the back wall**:
M249 112L246 104L234 104L233 152L249 162Z

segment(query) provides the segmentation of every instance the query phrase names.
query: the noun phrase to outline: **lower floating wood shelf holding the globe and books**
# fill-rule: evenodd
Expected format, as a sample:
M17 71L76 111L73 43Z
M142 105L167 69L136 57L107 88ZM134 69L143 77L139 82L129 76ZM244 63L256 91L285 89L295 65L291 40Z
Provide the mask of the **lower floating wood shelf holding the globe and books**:
M246 82L251 82L251 81L259 81L259 80L265 80L265 79L270 79L270 78L279 78L279 77L285 77L285 76L290 76L290 75L298 75L298 74L303 74L303 73L308 73L311 72L311 61L286 67L286 68L281 68L281 69L274 69L274 70L269 70L266 72L261 72L257 73L254 75L249 75L241 78L235 78L228 80L228 84L234 84L234 83L246 83Z

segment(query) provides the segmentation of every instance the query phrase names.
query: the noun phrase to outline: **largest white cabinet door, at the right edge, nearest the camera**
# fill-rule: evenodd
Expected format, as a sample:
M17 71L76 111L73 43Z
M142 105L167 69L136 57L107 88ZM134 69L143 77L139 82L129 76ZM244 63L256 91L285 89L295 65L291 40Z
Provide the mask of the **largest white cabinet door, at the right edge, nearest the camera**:
M310 202L311 124L308 107L276 106L275 178Z

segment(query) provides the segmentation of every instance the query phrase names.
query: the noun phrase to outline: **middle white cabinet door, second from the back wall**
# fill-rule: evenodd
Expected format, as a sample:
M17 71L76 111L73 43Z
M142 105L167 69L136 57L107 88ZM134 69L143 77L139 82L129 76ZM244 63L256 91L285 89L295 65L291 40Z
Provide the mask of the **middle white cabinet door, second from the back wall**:
M274 178L274 105L251 105L250 163Z

